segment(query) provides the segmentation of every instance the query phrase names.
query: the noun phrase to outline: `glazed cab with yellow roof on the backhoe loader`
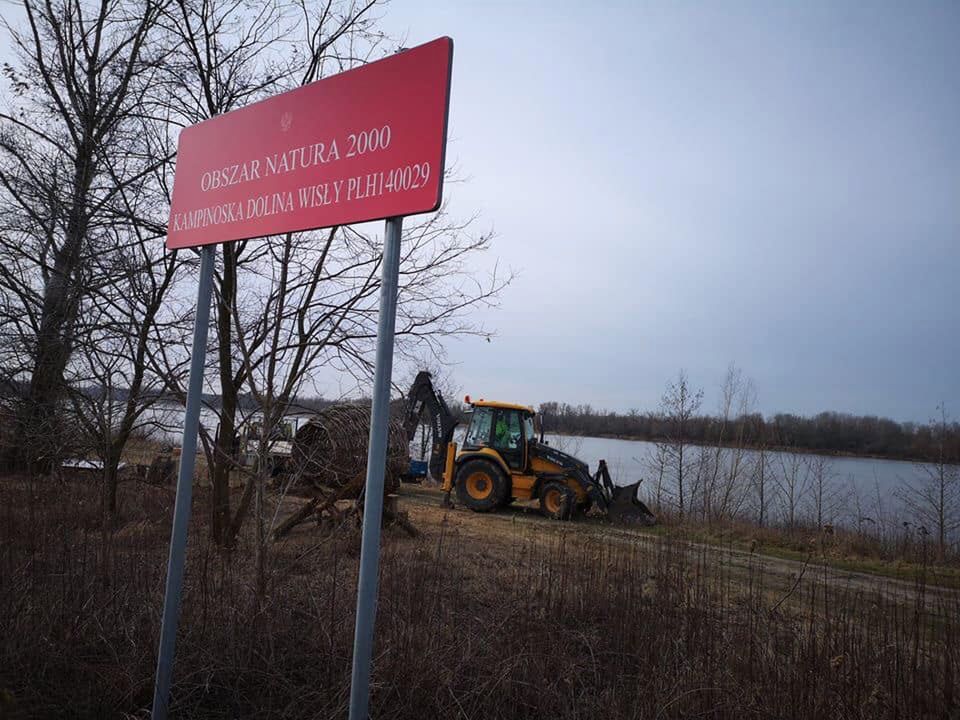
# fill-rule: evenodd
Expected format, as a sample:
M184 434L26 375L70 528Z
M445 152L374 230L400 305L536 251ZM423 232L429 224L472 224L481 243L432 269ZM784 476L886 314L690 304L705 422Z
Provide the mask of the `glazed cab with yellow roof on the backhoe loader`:
M463 450L489 448L503 458L512 472L523 471L529 463L530 443L536 440L533 409L487 400L472 405Z

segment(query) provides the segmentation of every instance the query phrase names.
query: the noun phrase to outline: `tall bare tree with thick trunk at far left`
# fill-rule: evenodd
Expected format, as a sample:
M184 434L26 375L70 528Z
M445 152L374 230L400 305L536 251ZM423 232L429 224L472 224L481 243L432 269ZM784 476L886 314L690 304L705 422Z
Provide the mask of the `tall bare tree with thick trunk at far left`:
M5 67L14 99L0 112L0 333L21 344L4 363L27 384L11 460L50 467L43 438L62 436L78 322L104 282L93 260L126 212L123 191L155 162L117 148L156 65L147 36L161 4L28 0L24 9L26 28L7 26L19 64Z

